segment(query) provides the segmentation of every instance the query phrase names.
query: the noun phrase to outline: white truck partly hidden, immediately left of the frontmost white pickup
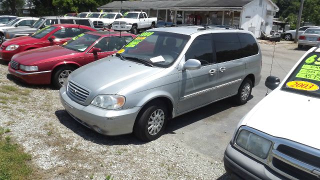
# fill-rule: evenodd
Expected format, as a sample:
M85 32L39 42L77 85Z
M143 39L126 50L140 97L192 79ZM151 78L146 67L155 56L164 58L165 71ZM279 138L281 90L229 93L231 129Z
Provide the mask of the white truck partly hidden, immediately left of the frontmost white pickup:
M121 18L122 14L119 12L106 12L102 13L97 18L90 18L95 28L102 28L102 27L112 27L112 23L115 19Z

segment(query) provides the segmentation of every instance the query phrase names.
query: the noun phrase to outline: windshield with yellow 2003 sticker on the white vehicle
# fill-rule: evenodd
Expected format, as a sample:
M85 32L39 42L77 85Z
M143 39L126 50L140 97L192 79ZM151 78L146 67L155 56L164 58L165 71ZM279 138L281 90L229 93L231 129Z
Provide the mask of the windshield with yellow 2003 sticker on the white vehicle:
M281 90L320 97L320 53L310 52L284 82Z

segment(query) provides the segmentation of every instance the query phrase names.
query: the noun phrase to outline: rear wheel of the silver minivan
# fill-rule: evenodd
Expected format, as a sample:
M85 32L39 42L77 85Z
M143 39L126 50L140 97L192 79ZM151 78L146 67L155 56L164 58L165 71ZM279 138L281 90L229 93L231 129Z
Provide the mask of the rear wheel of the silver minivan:
M245 104L248 101L251 91L252 81L249 78L245 78L238 89L238 93L234 96L236 104Z

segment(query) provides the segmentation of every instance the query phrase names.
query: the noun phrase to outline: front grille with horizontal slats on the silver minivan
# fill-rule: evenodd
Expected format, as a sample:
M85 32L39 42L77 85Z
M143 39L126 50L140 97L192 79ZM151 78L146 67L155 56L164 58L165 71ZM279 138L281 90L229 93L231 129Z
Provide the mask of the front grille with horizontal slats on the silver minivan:
M85 102L86 98L89 96L90 91L76 85L75 83L69 81L67 85L67 94L70 98L78 101Z

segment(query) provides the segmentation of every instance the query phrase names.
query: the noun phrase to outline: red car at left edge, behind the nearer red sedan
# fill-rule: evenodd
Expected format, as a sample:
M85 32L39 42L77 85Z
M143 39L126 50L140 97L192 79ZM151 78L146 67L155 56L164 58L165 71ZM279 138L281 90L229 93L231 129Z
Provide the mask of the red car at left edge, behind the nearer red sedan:
M39 29L30 36L15 37L3 42L0 46L0 58L10 61L11 57L29 49L59 45L71 37L96 29L78 24L54 24Z

